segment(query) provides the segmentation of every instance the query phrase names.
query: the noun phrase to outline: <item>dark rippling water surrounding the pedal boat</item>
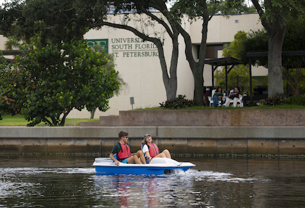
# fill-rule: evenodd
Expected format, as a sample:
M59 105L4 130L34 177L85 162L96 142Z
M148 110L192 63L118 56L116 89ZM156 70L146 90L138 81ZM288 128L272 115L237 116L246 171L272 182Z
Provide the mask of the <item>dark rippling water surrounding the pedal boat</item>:
M305 207L305 159L173 159L197 166L96 175L94 157L0 156L0 207Z

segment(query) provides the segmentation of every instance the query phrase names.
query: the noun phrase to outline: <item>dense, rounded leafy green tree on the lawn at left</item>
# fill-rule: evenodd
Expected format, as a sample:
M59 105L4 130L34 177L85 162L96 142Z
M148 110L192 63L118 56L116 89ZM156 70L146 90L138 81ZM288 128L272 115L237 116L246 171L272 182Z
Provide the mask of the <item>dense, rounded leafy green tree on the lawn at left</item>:
M30 44L10 43L22 54L12 69L1 71L7 75L1 77L1 99L32 121L29 125L64 125L73 108L105 111L119 90L119 73L107 69L105 57L82 41L44 45L37 38Z

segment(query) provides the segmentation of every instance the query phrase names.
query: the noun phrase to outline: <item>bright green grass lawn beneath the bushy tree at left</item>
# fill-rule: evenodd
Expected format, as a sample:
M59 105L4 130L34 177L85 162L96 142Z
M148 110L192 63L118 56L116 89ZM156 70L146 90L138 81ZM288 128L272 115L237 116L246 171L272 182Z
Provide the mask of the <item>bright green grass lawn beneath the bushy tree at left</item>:
M26 121L26 119L24 119L23 115L4 115L2 116L2 118L3 120L0 120L0 126L26 126L27 123L30 123L29 121ZM80 121L98 121L98 119L66 119L64 125L80 125ZM45 124L44 122L42 122L37 126L45 126Z

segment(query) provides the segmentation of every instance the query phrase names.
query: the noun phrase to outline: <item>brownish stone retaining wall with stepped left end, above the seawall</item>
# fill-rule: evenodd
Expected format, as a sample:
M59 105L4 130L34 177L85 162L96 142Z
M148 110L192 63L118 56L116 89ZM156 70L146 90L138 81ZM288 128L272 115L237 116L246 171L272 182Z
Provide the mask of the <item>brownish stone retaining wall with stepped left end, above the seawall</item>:
M132 110L81 126L305 126L305 109Z

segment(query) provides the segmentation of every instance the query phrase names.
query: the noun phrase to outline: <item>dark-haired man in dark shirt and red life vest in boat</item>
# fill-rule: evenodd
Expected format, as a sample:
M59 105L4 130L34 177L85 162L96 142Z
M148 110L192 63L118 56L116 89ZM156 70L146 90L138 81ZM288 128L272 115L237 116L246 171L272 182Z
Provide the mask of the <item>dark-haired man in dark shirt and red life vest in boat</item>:
M116 165L119 165L119 162L128 164L132 164L134 162L136 164L146 164L146 159L141 150L137 151L137 153L131 153L130 146L127 144L128 132L119 132L119 138L120 141L114 144L114 147L110 153L110 158L115 162ZM114 157L114 155L116 155L117 159Z

